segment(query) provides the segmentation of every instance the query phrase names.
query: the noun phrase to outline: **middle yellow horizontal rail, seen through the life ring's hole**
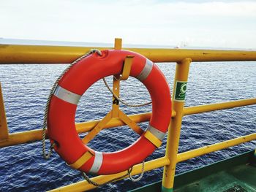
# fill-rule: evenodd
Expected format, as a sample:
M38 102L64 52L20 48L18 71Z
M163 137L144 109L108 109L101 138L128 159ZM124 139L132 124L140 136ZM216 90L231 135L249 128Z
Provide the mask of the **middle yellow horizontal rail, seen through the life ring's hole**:
M195 107L185 107L184 115L193 115L201 112L210 112L214 110L225 110L234 107L242 107L246 105L256 104L256 98L253 99L241 99L238 101L230 101L220 104L206 104ZM172 112L172 117L176 116L176 112ZM135 123L146 122L151 118L151 112L141 113L137 115L129 115L129 118L133 120ZM100 120L92 120L84 123L76 123L75 127L77 128L78 133L84 133L87 131L91 131L94 126L99 123ZM110 122L105 126L105 128L112 128L116 126L124 126L124 122L119 120L118 118L113 118ZM35 129L32 131L23 131L14 134L9 134L8 139L0 140L0 147L7 147L12 145L19 145L26 142L34 142L42 140L42 129Z

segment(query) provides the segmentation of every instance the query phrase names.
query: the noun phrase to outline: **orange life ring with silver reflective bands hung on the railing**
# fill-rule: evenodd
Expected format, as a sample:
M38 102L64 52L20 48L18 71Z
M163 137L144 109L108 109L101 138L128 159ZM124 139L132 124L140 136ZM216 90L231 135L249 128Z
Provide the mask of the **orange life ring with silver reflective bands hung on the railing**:
M75 111L80 96L102 79L120 74L124 59L133 55L130 76L148 89L152 115L147 130L129 147L114 153L97 152L84 145L75 130ZM71 67L50 99L48 137L56 152L75 169L93 174L114 174L142 162L161 145L171 117L170 89L158 67L143 55L127 50L93 53Z

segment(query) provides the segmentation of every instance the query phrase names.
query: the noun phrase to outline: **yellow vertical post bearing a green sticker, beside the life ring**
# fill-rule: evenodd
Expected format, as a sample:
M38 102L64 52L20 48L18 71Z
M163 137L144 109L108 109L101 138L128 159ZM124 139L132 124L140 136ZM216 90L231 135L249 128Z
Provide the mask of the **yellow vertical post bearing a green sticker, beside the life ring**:
M191 61L192 59L185 58L176 64L176 74L173 86L173 110L176 112L176 117L171 120L168 128L165 156L169 158L170 164L164 168L162 192L173 191L178 142L181 134L181 122L183 118L187 79L189 77L189 64Z

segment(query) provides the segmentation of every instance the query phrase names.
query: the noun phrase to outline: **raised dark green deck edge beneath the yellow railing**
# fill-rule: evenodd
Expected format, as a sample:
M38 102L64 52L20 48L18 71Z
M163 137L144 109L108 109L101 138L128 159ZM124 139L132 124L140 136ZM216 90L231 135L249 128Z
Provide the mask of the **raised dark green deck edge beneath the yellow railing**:
M194 169L189 172L184 172L178 174L175 177L174 188L179 188L188 183L192 183L195 180L200 180L200 178L206 177L210 174L214 174L224 169L229 169L233 166L238 166L241 164L256 164L255 150L236 155L232 158L227 158L222 161L217 161L214 164L209 164L208 166L203 166L199 169ZM144 185L140 188L135 188L130 192L151 192L151 191L161 191L162 180Z

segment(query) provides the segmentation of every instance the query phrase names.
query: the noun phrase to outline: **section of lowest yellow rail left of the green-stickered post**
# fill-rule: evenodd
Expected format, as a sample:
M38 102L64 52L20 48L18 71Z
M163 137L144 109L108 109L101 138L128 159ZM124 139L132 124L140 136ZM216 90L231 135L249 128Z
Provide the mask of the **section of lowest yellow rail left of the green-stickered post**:
M170 161L168 158L165 158L165 157L157 158L152 161L147 161L144 164L144 171L148 172L152 169L157 169L157 168L165 166L167 164L170 164ZM133 166L132 175L141 173L141 170L142 170L142 164ZM103 183L108 183L110 180L113 180L115 178L122 177L124 174L127 174L127 172L120 172L117 174L108 174L108 175L99 175L97 177L93 177L91 180L96 183L103 184ZM121 180L126 177L122 177L118 180ZM53 190L51 190L51 192L55 192L55 191L74 191L74 192L75 191L88 191L93 188L96 188L96 187L94 185L89 184L87 181L84 180L84 181L80 181L78 183L73 183L71 185L66 185L61 188L53 189Z

